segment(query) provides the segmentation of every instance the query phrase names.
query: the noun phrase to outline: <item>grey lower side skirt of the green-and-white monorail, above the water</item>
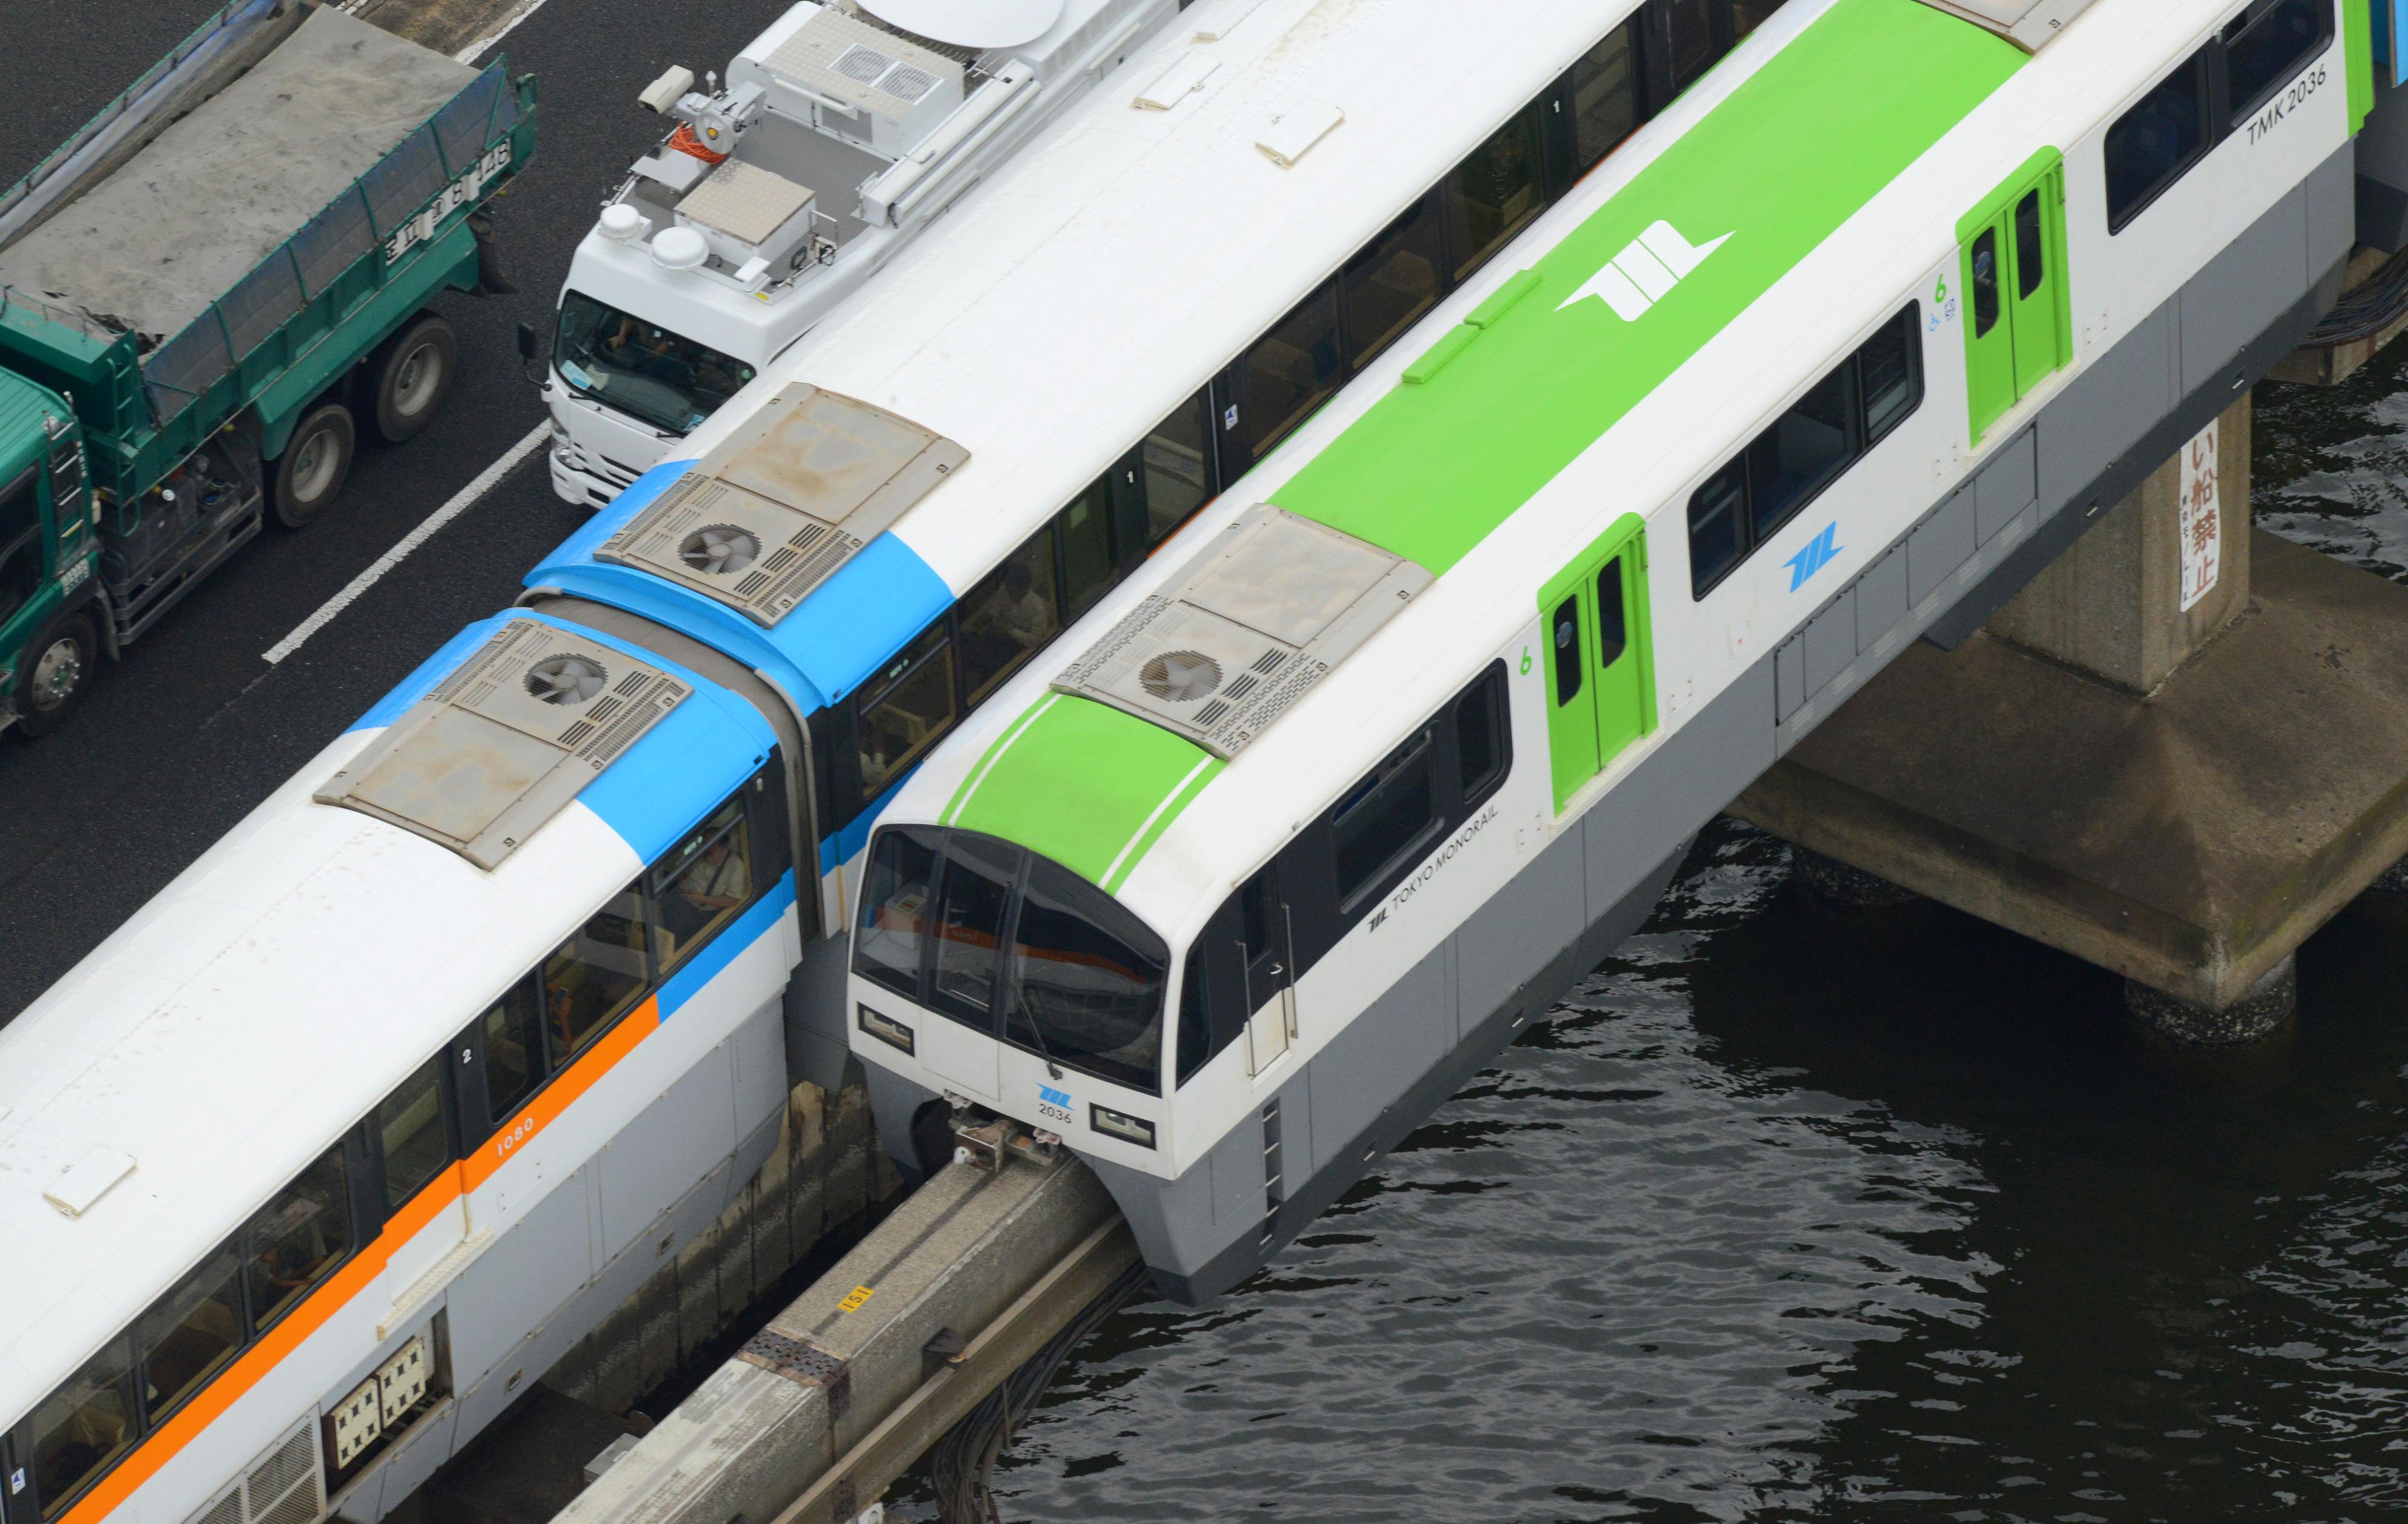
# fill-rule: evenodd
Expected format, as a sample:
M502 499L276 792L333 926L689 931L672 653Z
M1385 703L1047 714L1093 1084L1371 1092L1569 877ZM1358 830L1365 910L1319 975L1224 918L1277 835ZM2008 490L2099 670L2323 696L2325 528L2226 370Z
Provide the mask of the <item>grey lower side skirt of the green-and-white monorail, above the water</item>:
M2341 296L2343 147L1594 802L1180 1180L1088 1160L1163 1295L1269 1262L1664 893L1688 840L1917 636L1955 643L2261 380ZM1584 915L1568 910L1582 905ZM1570 920L1568 920L1570 917ZM1399 1076L1399 1055L1411 1074Z

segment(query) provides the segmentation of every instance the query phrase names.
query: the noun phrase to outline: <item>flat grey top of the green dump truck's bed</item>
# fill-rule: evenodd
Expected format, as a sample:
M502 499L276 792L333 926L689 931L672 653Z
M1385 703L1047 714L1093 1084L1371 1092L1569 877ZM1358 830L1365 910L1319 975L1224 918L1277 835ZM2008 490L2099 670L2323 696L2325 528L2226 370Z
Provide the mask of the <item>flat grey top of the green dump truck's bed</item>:
M0 253L0 284L152 349L390 154L477 70L315 10L267 58Z

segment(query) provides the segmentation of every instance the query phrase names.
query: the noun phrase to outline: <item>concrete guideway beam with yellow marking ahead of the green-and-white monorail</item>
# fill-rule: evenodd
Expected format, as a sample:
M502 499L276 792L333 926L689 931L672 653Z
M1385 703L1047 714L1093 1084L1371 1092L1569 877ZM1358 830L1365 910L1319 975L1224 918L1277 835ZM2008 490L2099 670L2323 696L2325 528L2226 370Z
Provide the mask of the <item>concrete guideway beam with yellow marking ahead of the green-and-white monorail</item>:
M824 1524L867 1510L946 1428L1137 1264L1074 1158L956 1163L913 1192L559 1524ZM932 1355L961 1341L958 1355Z

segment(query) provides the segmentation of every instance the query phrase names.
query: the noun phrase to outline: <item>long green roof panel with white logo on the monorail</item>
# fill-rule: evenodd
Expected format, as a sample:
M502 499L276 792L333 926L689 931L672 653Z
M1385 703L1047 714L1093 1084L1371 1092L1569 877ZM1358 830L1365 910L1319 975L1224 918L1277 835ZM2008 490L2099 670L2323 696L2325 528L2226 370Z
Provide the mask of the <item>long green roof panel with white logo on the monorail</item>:
M1382 397L1274 501L1445 573L2020 63L1919 0L1840 0L1539 260L1539 284L1474 344ZM1635 318L1575 301L1599 279L1625 308L1657 296Z

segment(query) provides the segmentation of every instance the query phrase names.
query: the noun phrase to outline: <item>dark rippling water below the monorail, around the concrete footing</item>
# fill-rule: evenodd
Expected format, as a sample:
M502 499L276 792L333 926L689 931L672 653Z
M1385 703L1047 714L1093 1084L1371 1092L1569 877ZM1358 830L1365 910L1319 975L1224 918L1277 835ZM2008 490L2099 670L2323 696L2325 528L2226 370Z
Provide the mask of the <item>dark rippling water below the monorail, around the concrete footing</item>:
M2401 366L2259 414L2261 522L2394 578ZM1717 823L1269 1271L1081 1348L1004 1517L2401 1517L2403 932L2343 917L2292 1030L2177 1052L2088 965L1835 917Z

